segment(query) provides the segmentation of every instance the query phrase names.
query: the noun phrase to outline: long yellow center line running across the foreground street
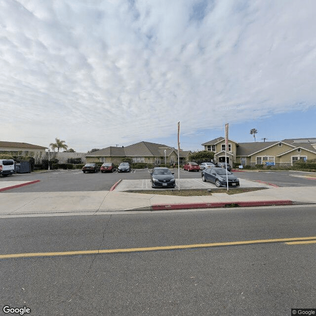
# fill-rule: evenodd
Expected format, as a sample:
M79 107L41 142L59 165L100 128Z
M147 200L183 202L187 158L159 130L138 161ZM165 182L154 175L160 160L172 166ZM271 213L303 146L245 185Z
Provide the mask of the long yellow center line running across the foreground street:
M212 243L197 243L191 245L174 245L174 246L157 246L157 247L142 247L142 248L120 248L120 249L101 249L101 250L77 250L77 251L62 251L62 252L34 252L34 253L14 253L0 255L0 259L8 258L26 258L26 257L51 257L51 256L72 256L72 255L91 255L100 253L124 253L124 252L140 252L140 251L159 251L159 250L177 250L190 248L209 248L232 245L247 245L255 243L274 243L285 242L287 244L295 243L315 243L314 237L297 237L297 238L276 238L276 239L258 239L258 240L242 240L228 242L212 242Z

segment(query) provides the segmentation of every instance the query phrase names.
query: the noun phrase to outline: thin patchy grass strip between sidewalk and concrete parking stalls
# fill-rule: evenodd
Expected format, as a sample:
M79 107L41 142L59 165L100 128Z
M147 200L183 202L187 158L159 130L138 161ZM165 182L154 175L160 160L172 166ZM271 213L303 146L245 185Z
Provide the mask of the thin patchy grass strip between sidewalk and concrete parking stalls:
M196 189L196 190L178 190L178 189L169 189L169 190L129 190L126 192L130 193L146 193L146 194L161 194L165 196L178 196L178 197L196 197L196 196L211 196L212 193L227 193L229 195L244 193L244 192L252 192L257 190L265 190L267 188L230 188L227 191L226 188L214 188L209 189Z

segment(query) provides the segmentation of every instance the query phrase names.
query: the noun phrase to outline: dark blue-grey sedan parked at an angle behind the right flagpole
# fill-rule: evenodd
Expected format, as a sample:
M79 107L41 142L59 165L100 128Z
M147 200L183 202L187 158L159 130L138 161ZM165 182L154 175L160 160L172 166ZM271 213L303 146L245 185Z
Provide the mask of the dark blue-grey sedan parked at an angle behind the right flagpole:
M227 187L226 169L224 168L207 168L202 171L202 180L204 182L215 183L216 187ZM239 179L232 173L227 171L228 175L228 186L239 187Z

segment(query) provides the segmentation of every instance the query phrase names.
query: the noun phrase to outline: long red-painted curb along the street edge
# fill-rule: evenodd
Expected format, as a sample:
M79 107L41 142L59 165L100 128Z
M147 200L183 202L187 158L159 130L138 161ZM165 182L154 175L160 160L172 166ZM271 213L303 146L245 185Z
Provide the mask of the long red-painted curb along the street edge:
M269 206L269 205L292 205L291 200L275 201L241 201L241 202L214 202L214 203L183 203L183 204L154 204L152 211L166 209L189 209L189 208L215 208L215 207L233 207L233 206Z

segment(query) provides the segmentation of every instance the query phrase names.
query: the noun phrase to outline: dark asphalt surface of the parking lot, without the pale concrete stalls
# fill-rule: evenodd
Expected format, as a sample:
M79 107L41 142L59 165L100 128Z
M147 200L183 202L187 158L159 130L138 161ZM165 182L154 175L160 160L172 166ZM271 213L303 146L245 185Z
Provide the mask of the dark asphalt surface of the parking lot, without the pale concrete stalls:
M174 169L178 178L178 170ZM316 174L295 171L244 171L236 172L237 177L247 180L263 181L279 187L315 186ZM200 179L201 172L180 170L181 179ZM119 180L150 179L148 169L132 170L131 173L82 173L80 170L56 170L46 173L15 174L0 177L0 181L40 180L37 184L11 189L10 192L60 192L60 191L104 191ZM7 191L6 191L7 192Z

